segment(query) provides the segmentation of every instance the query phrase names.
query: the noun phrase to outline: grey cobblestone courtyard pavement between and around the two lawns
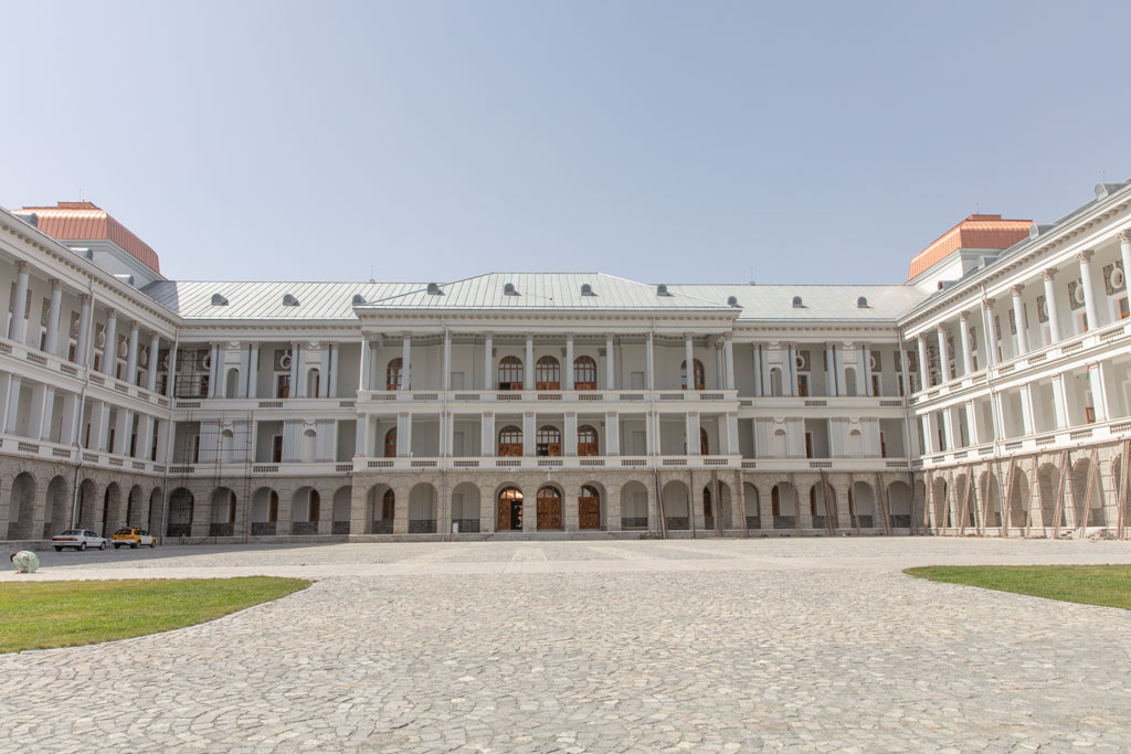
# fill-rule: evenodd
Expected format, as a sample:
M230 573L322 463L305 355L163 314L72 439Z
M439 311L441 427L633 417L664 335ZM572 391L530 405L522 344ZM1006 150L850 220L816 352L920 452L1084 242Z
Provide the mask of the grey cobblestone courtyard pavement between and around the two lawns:
M932 562L1131 562L1131 543L45 553L35 579L319 580L200 626L0 657L0 749L1129 751L1131 614L899 572Z

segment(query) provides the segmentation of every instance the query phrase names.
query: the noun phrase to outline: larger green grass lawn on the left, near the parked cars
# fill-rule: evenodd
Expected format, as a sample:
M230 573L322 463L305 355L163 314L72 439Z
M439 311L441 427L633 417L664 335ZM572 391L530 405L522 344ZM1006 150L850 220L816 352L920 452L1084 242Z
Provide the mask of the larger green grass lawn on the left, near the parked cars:
M0 653L129 639L218 618L305 589L247 577L0 583Z

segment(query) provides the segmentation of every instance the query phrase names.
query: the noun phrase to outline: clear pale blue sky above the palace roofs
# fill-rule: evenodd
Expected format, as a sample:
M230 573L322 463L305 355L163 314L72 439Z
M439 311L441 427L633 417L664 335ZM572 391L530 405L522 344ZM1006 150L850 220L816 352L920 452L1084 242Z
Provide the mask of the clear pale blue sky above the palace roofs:
M898 283L1131 177L1126 2L11 2L0 205L174 278Z

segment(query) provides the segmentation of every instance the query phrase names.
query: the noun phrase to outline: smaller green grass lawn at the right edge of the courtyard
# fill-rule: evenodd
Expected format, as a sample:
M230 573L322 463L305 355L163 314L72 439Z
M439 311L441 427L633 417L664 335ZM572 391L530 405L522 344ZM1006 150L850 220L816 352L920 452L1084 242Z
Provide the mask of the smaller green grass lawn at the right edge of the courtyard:
M920 579L1131 609L1131 565L930 565Z

